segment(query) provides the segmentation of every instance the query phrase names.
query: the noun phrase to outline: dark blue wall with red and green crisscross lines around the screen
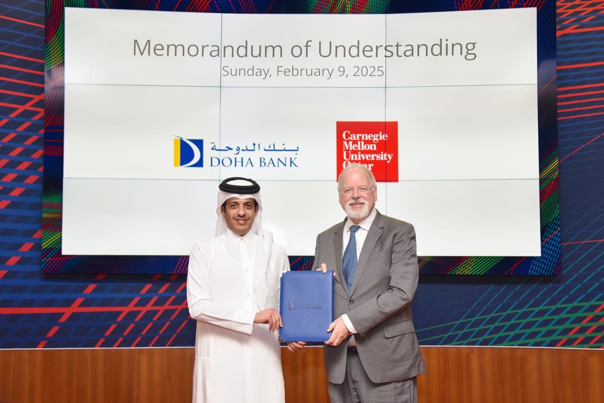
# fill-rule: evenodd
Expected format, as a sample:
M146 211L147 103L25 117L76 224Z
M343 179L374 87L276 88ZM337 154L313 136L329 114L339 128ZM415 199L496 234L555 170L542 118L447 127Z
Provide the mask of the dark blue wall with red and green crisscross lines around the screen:
M399 2L196 4L220 12L381 13L398 12ZM559 156L549 155L541 170L557 178L557 160L561 275L420 276L414 317L423 345L604 348L604 5L559 1L556 10L557 65L545 57L539 74L551 77L541 91L557 96ZM43 123L43 104L52 105L43 99L44 60L53 57L45 55L44 14L42 1L0 4L0 348L192 346L182 274L40 273L43 169L53 164L53 146L43 141L57 124Z

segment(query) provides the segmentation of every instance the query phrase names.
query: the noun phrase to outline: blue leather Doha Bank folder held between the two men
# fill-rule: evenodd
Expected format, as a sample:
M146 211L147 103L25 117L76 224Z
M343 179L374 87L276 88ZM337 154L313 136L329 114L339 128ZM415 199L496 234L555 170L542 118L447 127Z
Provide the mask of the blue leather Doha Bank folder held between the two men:
M281 277L279 336L284 341L327 341L333 321L333 272L286 271Z

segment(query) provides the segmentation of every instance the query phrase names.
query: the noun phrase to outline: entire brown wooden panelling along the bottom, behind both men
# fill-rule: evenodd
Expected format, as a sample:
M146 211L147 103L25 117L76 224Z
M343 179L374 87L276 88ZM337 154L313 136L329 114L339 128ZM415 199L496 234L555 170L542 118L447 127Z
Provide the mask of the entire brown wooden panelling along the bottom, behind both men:
M420 403L600 403L604 350L422 347ZM194 350L0 350L0 403L187 403ZM327 403L323 350L282 349L287 403ZM225 402L230 403L230 402ZM234 402L238 403L238 402Z

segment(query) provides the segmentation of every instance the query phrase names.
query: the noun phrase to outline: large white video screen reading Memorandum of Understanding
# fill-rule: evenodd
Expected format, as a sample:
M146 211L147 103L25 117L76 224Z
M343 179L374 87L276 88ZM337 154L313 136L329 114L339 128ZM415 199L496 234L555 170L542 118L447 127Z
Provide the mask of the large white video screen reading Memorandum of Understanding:
M312 256L345 217L350 163L374 173L381 213L415 226L426 264L540 259L536 8L64 13L60 254L86 257L78 271L132 257L122 267L178 272L214 236L231 176L259 182L289 256Z

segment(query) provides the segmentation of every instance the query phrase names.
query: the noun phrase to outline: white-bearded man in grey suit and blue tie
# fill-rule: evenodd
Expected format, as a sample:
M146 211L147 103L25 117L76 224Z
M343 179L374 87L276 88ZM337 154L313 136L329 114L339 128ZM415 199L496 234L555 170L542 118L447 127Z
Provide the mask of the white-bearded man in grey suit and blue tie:
M370 170L350 164L338 179L347 218L316 238L315 264L333 270L332 332L324 361L332 403L417 402L426 372L413 327L417 288L413 225L379 213Z

